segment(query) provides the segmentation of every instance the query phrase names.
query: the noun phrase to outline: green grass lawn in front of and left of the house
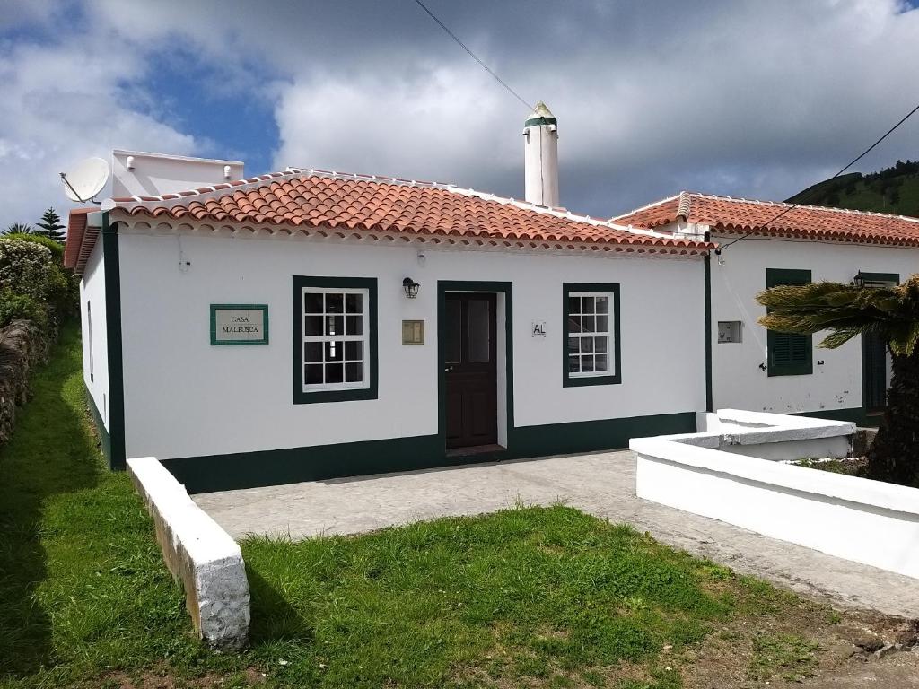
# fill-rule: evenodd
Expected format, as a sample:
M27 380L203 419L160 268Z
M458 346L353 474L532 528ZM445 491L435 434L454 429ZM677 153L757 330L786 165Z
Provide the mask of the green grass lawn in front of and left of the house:
M104 466L64 329L0 451L0 687L758 685L842 617L570 508L243 543L252 649L192 638L152 523Z

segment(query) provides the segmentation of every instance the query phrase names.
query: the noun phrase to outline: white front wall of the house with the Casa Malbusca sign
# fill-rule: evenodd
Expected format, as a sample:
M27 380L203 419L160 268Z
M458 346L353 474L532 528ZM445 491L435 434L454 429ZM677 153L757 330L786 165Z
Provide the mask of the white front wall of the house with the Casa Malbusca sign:
M418 250L184 234L183 271L176 235L122 228L128 457L437 434L438 279L514 283L517 426L704 408L701 259L425 248L422 266ZM292 403L295 275L378 278L377 400ZM404 297L406 276L421 284L417 299ZM562 388L563 282L621 285L622 384ZM229 302L268 304L270 344L210 345L209 305ZM425 320L424 345L402 344L403 319ZM546 337L531 337L533 321L547 322Z

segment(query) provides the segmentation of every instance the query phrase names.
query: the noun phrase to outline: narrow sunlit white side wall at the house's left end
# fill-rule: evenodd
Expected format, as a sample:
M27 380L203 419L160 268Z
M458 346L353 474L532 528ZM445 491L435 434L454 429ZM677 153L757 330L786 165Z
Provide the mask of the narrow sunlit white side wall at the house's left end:
M92 356L87 304L92 303ZM96 242L80 280L80 323L83 332L83 380L108 430L108 342L106 340L106 266L102 239ZM90 378L92 361L92 378Z

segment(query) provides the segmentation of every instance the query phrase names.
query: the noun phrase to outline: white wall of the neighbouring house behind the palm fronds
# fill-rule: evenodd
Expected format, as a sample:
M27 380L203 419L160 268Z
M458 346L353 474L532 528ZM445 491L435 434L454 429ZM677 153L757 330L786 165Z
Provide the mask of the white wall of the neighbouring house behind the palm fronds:
M725 243L714 236L713 241ZM755 296L766 289L766 268L811 271L811 280L849 283L859 271L898 273L901 281L919 272L919 251L902 247L744 239L711 259L712 390L715 408L766 412L816 412L862 406L860 338L839 349L818 348L813 337L813 373L769 377L766 329L756 319L766 308ZM740 344L718 342L719 321L743 322ZM823 361L823 365L818 365Z

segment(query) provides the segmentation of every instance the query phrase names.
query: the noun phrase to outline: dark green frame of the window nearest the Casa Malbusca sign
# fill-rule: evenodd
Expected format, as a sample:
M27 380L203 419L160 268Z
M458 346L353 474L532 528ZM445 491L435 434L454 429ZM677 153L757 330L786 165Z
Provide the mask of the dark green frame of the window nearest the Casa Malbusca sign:
M376 400L380 367L377 360L377 278L293 276L291 312L293 314L293 403ZM303 289L366 289L369 296L369 386L346 390L303 390Z

